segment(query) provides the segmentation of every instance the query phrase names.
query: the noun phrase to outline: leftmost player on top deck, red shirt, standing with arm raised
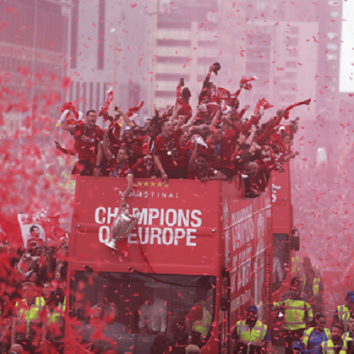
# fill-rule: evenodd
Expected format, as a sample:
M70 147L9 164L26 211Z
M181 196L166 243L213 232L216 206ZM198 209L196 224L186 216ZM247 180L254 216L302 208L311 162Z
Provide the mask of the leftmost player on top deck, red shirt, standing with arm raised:
M79 155L76 170L81 176L99 176L102 151L99 142L103 139L103 130L96 125L97 113L88 110L86 123L69 125L67 120L62 122L62 129L74 133L75 149Z

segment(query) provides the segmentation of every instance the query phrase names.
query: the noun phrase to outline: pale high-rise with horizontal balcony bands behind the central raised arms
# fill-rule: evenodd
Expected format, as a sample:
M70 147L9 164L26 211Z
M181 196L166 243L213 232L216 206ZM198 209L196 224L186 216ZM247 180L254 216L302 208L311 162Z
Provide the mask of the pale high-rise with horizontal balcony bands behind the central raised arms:
M164 109L176 102L176 86L183 78L198 104L202 81L219 61L218 1L152 0L149 105Z

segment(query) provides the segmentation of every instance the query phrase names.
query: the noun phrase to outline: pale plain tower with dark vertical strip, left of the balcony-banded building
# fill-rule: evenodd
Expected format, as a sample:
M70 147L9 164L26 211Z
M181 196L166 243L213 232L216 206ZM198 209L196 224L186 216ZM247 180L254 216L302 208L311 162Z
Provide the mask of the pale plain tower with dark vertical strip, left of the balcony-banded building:
M67 100L83 113L98 110L113 87L115 103L127 110L144 101L147 114L149 8L117 0L72 0L70 76ZM116 57L115 57L116 55ZM116 62L114 64L114 58ZM115 67L115 69L114 69Z

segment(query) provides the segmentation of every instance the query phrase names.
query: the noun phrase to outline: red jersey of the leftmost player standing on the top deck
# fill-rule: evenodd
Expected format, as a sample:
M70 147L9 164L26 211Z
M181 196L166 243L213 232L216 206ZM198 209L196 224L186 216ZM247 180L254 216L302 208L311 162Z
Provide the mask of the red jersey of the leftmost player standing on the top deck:
M79 160L90 160L95 164L98 143L103 141L103 130L97 125L89 129L86 124L79 124L75 127L74 135Z

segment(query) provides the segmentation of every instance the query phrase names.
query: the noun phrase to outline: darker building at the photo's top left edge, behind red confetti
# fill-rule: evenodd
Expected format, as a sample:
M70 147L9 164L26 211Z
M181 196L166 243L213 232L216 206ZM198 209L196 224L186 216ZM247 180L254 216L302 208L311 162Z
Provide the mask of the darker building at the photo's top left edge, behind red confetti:
M52 115L64 99L65 28L59 3L0 2L2 137L11 137L20 128L23 134L30 133L32 110ZM53 128L54 124L42 127L42 135L50 135Z

